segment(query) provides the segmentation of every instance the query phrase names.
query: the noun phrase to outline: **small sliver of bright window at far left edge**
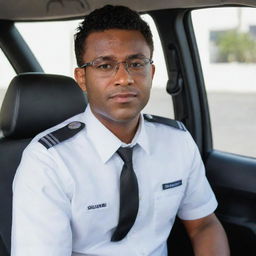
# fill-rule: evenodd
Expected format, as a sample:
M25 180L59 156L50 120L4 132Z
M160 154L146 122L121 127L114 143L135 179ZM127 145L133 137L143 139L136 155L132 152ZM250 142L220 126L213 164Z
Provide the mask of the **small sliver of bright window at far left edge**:
M0 106L10 81L15 76L15 71L0 48Z

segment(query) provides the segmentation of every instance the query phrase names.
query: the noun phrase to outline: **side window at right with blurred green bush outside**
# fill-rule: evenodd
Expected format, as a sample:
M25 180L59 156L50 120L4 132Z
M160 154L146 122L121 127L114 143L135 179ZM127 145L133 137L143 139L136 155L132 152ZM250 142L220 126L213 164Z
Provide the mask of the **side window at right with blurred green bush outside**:
M201 9L192 21L214 148L256 157L256 10Z

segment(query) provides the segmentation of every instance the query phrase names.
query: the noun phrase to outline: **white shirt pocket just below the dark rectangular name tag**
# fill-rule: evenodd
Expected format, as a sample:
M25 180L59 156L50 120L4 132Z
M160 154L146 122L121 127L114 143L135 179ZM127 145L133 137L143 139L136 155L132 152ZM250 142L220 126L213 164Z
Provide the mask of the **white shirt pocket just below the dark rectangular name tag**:
M154 198L155 230L159 234L169 234L184 194L184 184L160 190Z

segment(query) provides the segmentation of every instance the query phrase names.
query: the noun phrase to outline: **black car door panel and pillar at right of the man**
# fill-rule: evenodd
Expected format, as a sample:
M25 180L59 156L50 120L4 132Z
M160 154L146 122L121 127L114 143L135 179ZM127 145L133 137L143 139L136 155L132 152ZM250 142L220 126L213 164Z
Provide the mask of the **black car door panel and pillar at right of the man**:
M164 42L167 66L173 63L168 62L171 46L177 51L180 76L184 81L182 90L173 94L175 117L186 124L199 146L206 175L219 203L216 215L228 235L231 255L245 255L245 251L248 251L246 255L256 255L256 159L213 149L207 96L190 12L165 10L164 15L160 17L160 11L153 13ZM171 70L170 66L168 68ZM193 255L179 220L168 245L169 255Z

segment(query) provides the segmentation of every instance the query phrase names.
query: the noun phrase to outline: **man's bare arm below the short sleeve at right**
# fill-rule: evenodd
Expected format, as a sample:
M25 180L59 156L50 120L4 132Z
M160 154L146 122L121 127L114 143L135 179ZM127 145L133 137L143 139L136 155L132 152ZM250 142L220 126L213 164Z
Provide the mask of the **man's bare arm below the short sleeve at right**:
M227 236L215 214L196 220L182 220L196 256L230 255Z

